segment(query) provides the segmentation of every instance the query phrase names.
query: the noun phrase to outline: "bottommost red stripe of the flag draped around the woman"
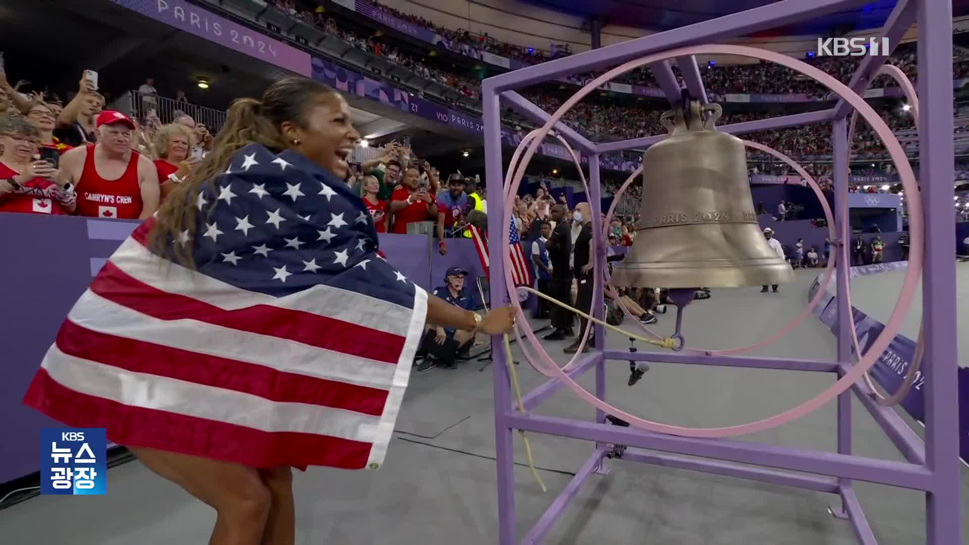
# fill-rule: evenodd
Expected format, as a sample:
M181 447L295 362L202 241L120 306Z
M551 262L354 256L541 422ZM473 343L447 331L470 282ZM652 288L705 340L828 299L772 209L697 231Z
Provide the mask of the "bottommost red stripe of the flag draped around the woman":
M315 433L262 432L168 411L125 405L62 386L40 369L23 402L69 427L107 428L119 445L158 448L248 465L359 469L370 444Z

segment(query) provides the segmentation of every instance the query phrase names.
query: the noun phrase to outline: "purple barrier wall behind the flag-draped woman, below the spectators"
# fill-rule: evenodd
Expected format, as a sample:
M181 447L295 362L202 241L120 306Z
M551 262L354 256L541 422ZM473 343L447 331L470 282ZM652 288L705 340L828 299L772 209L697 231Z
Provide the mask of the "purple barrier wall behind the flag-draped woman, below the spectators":
M0 263L8 286L4 305L0 305L0 323L4 324L0 436L6 437L0 449L0 483L40 468L40 429L59 425L20 400L64 317L138 223L0 213L0 233L21 234L3 238L5 259ZM451 266L472 276L483 273L470 239L448 240L446 256L435 247L429 267L423 236L385 235L380 246L391 264L425 289L440 285Z

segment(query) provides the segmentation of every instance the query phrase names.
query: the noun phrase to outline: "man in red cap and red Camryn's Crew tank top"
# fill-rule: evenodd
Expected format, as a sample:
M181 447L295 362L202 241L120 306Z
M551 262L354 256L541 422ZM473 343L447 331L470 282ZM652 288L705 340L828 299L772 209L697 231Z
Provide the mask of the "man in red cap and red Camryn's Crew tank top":
M155 165L131 148L135 123L124 113L105 111L95 122L98 144L61 156L66 181L78 192L78 215L146 219L158 209Z

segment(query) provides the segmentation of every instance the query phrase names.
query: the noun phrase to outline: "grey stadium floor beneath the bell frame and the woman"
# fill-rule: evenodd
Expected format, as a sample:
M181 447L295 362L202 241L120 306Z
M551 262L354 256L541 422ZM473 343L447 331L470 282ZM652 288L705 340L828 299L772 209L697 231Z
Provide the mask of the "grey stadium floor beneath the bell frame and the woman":
M715 290L689 306L687 343L735 347L771 335L805 305L814 272L779 294L757 288ZM857 280L856 300L865 305ZM964 284L963 284L964 285ZM886 296L885 288L878 292ZM672 333L673 315L658 330ZM626 327L636 328L635 324ZM547 350L564 363L564 342ZM610 336L610 347L628 340ZM640 346L640 350L649 348ZM755 354L831 358L833 337L815 318ZM387 463L376 472L311 468L297 473L300 545L474 544L497 542L492 375L479 364L415 373L404 400ZM530 389L544 377L518 366ZM641 383L626 386L628 365L612 362L607 397L634 414L673 424L712 427L764 418L805 401L830 384L820 373L718 369L654 364ZM585 376L580 380L591 388ZM591 418L592 407L571 392L556 394L536 412ZM770 444L835 449L832 403L781 429L743 437ZM891 442L856 401L854 444L860 455L902 461ZM911 422L911 421L910 421ZM919 433L922 429L915 426ZM516 468L519 535L541 516L588 456L591 444L530 434L549 492L527 467ZM525 462L516 436L516 460ZM847 545L850 525L828 515L830 495L787 489L652 465L610 462L608 476L593 475L551 530L546 543L649 545ZM962 469L963 542L969 543L969 470ZM857 483L860 501L882 545L924 543L924 496ZM0 511L3 545L202 544L214 513L138 463L109 471L104 497L37 497ZM946 544L949 545L949 544ZM955 545L955 544L953 544Z

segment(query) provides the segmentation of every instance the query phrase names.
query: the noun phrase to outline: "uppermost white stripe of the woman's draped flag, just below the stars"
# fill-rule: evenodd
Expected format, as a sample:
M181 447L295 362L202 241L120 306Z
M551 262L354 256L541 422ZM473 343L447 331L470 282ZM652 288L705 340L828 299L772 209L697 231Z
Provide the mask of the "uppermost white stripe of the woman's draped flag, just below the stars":
M246 259L262 259L262 256ZM399 337L408 334L412 314L410 308L350 290L318 284L278 298L247 291L162 259L134 239L125 240L111 256L110 262L145 284L165 292L186 295L223 310L271 305L302 310Z

